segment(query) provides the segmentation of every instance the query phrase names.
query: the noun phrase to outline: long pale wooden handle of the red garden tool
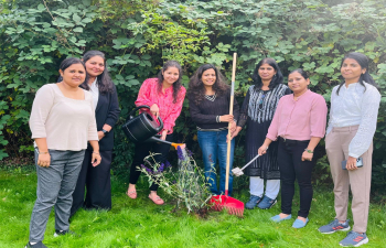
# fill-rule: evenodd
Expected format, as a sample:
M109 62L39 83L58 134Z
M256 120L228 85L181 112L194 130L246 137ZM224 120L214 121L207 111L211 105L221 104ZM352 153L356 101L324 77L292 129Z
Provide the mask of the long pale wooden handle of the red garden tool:
M230 104L229 104L229 115L233 115L233 101L235 98L235 78L236 78L236 58L237 53L233 54L233 64L232 64L232 86L230 86ZM230 168L230 123L228 123L228 138L229 142L227 144L226 150L226 175L225 175L225 195L228 195L228 188L229 188L229 168Z

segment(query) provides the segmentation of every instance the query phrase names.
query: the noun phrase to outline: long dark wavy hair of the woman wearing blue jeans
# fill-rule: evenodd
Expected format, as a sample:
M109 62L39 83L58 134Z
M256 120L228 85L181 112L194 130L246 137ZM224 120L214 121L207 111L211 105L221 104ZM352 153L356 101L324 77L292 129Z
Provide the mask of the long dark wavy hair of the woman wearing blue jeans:
M189 89L187 95L193 97L194 103L199 105L205 97L205 86L202 82L202 75L207 69L214 69L216 74L216 80L213 84L212 88L216 93L217 96L221 96L227 91L229 86L225 83L225 78L223 74L216 68L216 66L212 64L205 64L200 66L197 71L194 73L194 75L191 77L191 80L189 82Z

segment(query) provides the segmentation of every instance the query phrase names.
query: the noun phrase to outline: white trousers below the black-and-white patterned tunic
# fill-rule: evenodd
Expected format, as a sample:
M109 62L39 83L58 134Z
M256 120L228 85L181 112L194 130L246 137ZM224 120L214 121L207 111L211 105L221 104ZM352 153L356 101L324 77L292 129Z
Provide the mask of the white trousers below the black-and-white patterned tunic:
M249 176L249 190L251 195L261 197L264 194L264 180L260 176ZM275 200L280 191L280 180L267 180L266 196Z

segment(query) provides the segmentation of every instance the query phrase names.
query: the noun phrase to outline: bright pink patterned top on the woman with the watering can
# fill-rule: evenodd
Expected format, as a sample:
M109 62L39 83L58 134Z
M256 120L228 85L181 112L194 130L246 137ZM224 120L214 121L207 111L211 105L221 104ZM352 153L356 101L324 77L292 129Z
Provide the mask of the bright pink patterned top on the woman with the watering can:
M186 89L181 86L176 103L173 104L173 87L169 87L164 93L158 91L158 78L148 78L143 82L138 93L136 106L153 104L160 109L160 117L163 120L163 129L168 130L168 134L173 132L175 119L180 116L182 104L185 98Z

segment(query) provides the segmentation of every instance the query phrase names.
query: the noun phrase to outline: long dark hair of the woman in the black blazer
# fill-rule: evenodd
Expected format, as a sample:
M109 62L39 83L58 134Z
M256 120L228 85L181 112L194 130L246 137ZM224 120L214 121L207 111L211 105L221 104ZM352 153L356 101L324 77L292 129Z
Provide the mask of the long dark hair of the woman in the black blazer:
M95 56L99 56L99 57L104 58L104 64L105 64L104 72L97 76L97 84L98 84L99 93L101 93L101 94L112 93L112 90L114 90L112 80L111 80L110 75L108 73L108 69L107 69L105 54L100 51L94 51L94 50L88 51L83 55L83 62L86 64L86 62L88 60L90 60L92 57L95 57ZM89 90L88 80L85 80L81 85L81 87L86 89L86 90Z

